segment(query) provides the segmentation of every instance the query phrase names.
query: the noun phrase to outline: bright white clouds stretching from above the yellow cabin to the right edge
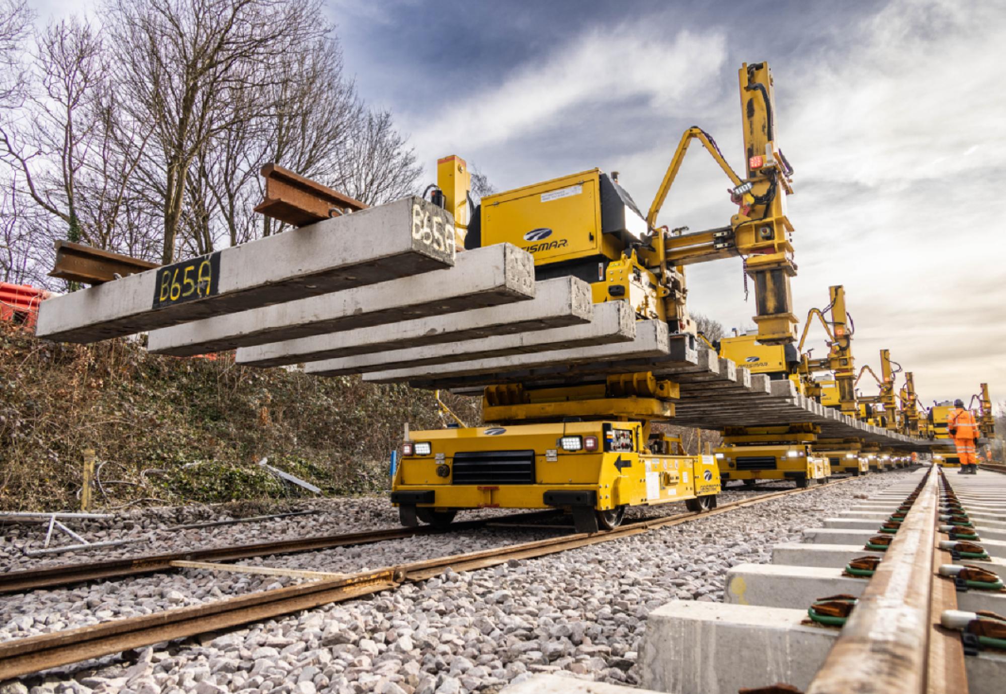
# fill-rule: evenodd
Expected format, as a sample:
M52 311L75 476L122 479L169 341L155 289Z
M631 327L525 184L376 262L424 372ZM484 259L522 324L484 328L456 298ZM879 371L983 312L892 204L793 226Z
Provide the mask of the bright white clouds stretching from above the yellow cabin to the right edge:
M589 31L450 103L439 118L406 121L421 161L457 151L507 186L562 173L560 157L621 171L644 207L682 126L711 132L739 166L739 61L727 61L725 33L692 27L658 38L661 23ZM1006 399L1006 234L998 209L1006 180L1006 93L998 83L1006 7L893 0L834 27L813 52L772 61L779 144L797 169L789 206L797 314L802 320L826 303L830 285L842 284L859 364L876 366L877 350L887 348L929 400L970 393L980 381ZM765 57L758 46L729 48ZM599 155L607 151L599 134L625 127L625 112L615 112L630 102L646 124L638 145ZM592 127L577 120L588 110L599 119ZM526 148L535 137L550 139L547 153ZM661 223L725 224L735 210L725 188L695 146ZM693 310L728 328L752 325L753 294L744 303L738 259L692 266L688 283Z

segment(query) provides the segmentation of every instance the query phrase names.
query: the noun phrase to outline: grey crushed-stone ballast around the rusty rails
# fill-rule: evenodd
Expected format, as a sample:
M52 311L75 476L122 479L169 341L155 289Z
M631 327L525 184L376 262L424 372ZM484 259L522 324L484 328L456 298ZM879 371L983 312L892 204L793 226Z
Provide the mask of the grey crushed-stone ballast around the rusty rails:
M650 611L675 599L720 600L725 573L731 566L769 562L774 544L798 541L804 528L906 475L870 475L683 525L537 559L511 560L494 568L463 573L448 570L371 598L146 649L139 660L110 657L63 668L44 680L36 676L7 683L0 685L0 694L26 692L30 687L57 692L463 694L498 691L536 672L638 684L636 658ZM728 491L721 500L752 494ZM355 528L359 530L393 527L397 521L384 500L312 503L330 505L326 514L349 519L352 525L359 523ZM370 516L353 517L355 511L365 508L372 509ZM659 513L680 510L680 505L674 504L659 509ZM633 515L640 513L658 515L658 509L634 510ZM282 528L281 536L298 536L295 526L300 528L300 537L353 531L345 524L337 530L313 529L310 523L320 520L317 516L289 519L295 522ZM225 542L216 532L211 534L216 539L211 540L233 544L278 539L267 534L268 528L248 536L245 525L229 527L240 539L230 537L230 542ZM487 528L241 563L360 570L540 539L555 532ZM159 546L158 551L168 549ZM16 563L19 568L40 565ZM94 623L74 620L149 614L144 611L192 604L294 580L184 570L6 596L0 598L0 639ZM18 686L25 688L9 689Z

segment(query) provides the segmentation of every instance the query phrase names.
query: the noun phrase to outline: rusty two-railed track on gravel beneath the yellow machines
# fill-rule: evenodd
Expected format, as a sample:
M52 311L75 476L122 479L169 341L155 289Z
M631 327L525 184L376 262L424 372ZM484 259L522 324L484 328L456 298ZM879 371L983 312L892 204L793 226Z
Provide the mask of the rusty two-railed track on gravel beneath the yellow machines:
M154 615L117 620L81 629L43 634L25 639L0 643L0 681L40 672L50 668L77 663L93 658L121 653L129 649L142 648L153 644L197 636L207 632L238 627L317 608L331 602L339 602L384 590L391 590L408 582L423 581L436 576L448 568L455 571L474 570L496 566L511 559L529 559L578 547L638 535L657 528L669 527L702 520L729 513L736 509L764 504L784 497L807 494L840 485L857 478L836 480L827 486L806 489L790 489L763 494L750 499L729 502L711 511L702 513L681 513L662 518L644 519L626 523L615 530L595 534L569 534L556 538L535 540L504 547L492 548L467 554L455 554L423 561L390 566L376 571L364 571L330 579L313 580L298 585L263 590L260 592L231 597L214 602L167 610ZM536 516L541 514L520 514ZM514 516L508 517L510 519ZM498 519L490 519L495 521ZM485 524L490 521L479 521ZM476 523L476 522L472 522ZM464 523L452 527L466 527ZM472 525L471 527L477 527ZM423 531L423 529L420 529ZM427 532L434 532L433 530ZM404 533L404 534L400 534ZM310 551L330 546L346 546L362 542L379 541L378 537L408 537L416 534L412 530L394 529L375 533L353 533L352 535L311 538L299 543L293 551ZM260 543L243 547L229 547L219 550L205 550L217 560L259 556L265 553L290 553L275 547L282 543ZM290 543L287 543L290 544ZM309 546L310 545L310 546ZM160 555L143 559L104 562L100 570L85 573L76 567L56 567L36 571L19 571L19 576L6 576L5 589L13 586L50 587L77 582L85 579L119 577L170 570L167 557ZM186 553L185 556L205 554ZM174 560L178 560L175 558ZM114 565L112 565L114 564ZM166 567L166 568L162 568ZM75 569L75 572L68 569ZM29 575L30 574L30 575Z

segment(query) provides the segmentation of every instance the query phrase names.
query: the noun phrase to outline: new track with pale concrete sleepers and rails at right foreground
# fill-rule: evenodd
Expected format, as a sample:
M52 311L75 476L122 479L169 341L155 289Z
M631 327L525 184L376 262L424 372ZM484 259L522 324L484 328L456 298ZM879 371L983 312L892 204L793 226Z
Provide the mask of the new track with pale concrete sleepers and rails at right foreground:
M935 466L921 475L917 486L874 494L825 527L808 528L803 543L776 546L772 564L732 567L725 602L700 610L672 602L651 614L642 686L1002 692L1006 484ZM738 652L738 637L766 652L785 645L787 656L751 659ZM717 667L690 667L696 661ZM772 684L780 682L795 689Z

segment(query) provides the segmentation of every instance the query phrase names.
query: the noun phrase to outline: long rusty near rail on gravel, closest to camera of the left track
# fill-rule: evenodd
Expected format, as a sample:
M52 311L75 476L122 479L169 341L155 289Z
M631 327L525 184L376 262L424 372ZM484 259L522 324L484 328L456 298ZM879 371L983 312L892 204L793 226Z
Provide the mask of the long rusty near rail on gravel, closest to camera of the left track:
M837 480L842 484L856 478ZM422 581L448 568L474 570L495 566L510 559L526 559L584 547L600 542L637 535L656 528L703 520L781 497L817 492L831 485L791 489L751 499L723 504L711 511L681 513L629 523L615 530L536 540L515 545L416 561L379 571L368 571L342 579L319 580L300 585L263 590L191 608L168 610L154 615L116 620L80 629L41 634L0 643L0 681L77 663L82 660L121 653L125 649L197 636L264 619L339 602L360 595L393 589L403 582Z

